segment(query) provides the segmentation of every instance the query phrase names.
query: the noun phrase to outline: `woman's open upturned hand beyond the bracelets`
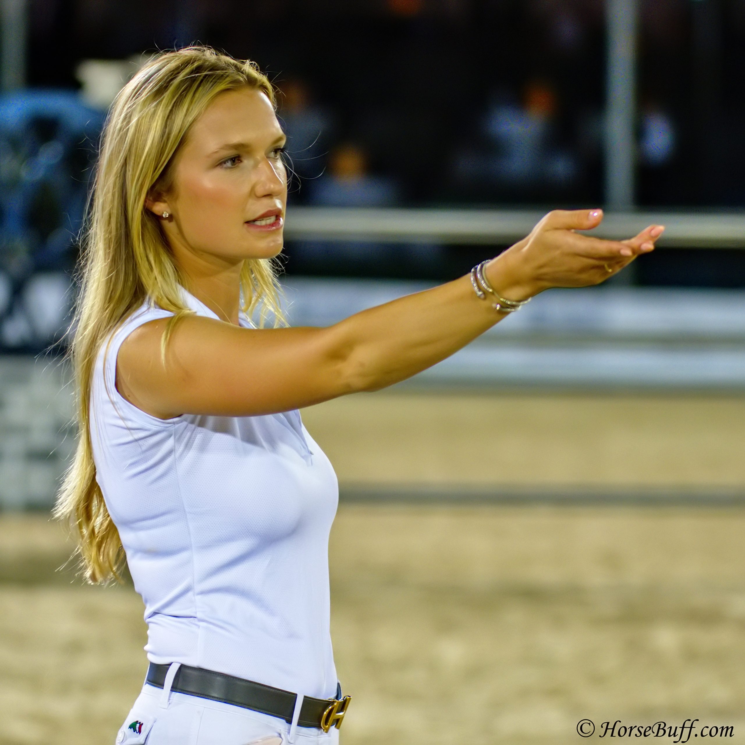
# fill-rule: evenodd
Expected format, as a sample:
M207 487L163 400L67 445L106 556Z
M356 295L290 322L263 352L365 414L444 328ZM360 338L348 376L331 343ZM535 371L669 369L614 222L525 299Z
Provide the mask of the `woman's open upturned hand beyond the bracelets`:
M654 249L665 229L650 225L626 241L603 241L576 230L591 230L603 211L557 209L549 212L522 241L486 264L486 279L510 300L523 300L551 287L599 285Z

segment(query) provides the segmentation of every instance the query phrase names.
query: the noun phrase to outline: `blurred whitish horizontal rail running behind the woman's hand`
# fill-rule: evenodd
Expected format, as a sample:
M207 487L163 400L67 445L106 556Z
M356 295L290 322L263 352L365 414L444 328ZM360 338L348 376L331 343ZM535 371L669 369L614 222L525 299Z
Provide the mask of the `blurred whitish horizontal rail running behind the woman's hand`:
M539 209L288 209L290 240L510 244L545 215ZM630 238L650 224L665 225L660 247L745 248L745 212L606 212L592 231L599 238Z

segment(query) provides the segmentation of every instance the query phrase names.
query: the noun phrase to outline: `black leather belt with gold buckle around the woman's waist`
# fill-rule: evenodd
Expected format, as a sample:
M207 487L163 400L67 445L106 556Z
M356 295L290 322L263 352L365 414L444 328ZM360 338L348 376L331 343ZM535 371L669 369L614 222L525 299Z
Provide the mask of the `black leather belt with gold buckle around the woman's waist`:
M146 681L156 688L162 688L169 667L170 665L156 665L150 662ZM297 700L297 694L283 691L282 688L273 688L271 685L203 668L190 668L188 665L181 665L178 669L171 691L261 711L262 714L284 719L288 724L292 723ZM329 732L332 726L339 729L352 697L341 697L341 686L338 683L336 695L335 699L306 696L300 707L298 725L318 727L323 729L323 732Z

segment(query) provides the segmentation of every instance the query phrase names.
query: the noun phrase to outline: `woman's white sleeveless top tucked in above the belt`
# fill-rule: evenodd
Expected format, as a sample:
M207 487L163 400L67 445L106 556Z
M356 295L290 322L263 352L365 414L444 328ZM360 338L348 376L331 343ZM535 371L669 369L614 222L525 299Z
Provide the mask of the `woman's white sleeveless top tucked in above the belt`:
M186 290L183 298L217 318ZM124 399L121 343L171 315L146 301L108 351L104 341L91 393L96 479L145 601L148 659L332 697L334 469L297 409L158 419ZM245 314L241 326L253 326Z

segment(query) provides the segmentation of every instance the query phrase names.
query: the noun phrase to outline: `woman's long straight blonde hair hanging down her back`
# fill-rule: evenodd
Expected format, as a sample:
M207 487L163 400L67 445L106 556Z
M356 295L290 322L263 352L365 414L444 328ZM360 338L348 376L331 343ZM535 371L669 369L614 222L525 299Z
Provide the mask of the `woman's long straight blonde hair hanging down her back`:
M150 297L174 313L162 340L191 311L180 296L183 278L158 219L145 208L154 186L168 188L171 163L191 124L219 93L244 86L276 105L256 64L209 47L192 46L151 58L119 92L104 126L92 198L83 232L80 294L69 356L77 393L77 451L57 496L54 516L78 539L83 574L91 583L119 577L124 559L118 531L96 482L90 435L93 367L104 339ZM286 323L273 259L246 259L241 270L244 311Z

